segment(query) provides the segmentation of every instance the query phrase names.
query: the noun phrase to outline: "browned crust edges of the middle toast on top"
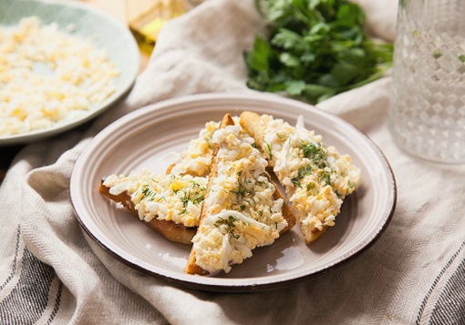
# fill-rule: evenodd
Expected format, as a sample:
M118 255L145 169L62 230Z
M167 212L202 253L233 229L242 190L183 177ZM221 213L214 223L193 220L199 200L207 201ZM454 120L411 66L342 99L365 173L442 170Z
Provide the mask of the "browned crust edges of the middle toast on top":
M234 125L233 117L231 116L231 114L226 114L222 118L222 123L220 124L220 128L233 126L233 125ZM216 178L218 174L218 161L217 161L216 156L218 154L219 149L220 149L220 146L215 144L215 148L213 151L213 158L212 158L212 168L211 168L210 175L209 175L208 186L205 191L205 198L209 197L212 179ZM283 198L284 200L282 213L283 213L283 217L287 221L287 227L281 230L280 234L283 234L287 230L292 229L294 227L295 218L294 218L294 215L292 214L291 208L289 208L287 204L285 203L286 200L280 188L274 183L274 180L273 178L270 177L270 175L268 175L268 177L274 185L274 189L275 189L274 195L273 195L274 199ZM202 220L206 218L206 214L207 214L206 208L205 208L205 205L203 204L202 212L201 212L201 219L200 219L201 225L202 225ZM184 269L184 272L189 273L189 274L198 274L198 275L209 275L210 274L207 270L202 269L200 266L196 264L195 252L193 249L191 250L191 254L189 255L189 259L187 261L187 265L186 265L186 268Z

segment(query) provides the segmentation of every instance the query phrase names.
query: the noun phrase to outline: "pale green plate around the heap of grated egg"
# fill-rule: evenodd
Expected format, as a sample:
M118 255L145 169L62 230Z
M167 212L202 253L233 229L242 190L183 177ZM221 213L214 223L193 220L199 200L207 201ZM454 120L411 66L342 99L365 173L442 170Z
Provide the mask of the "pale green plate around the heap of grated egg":
M116 91L75 119L58 122L53 127L0 136L0 146L32 142L77 127L102 113L123 96L139 73L140 52L136 41L129 29L113 17L74 1L0 1L0 26L17 25L22 18L31 15L38 16L44 24L55 22L61 30L72 24L75 26L73 35L91 39L95 46L106 49L109 59L120 72L114 81Z

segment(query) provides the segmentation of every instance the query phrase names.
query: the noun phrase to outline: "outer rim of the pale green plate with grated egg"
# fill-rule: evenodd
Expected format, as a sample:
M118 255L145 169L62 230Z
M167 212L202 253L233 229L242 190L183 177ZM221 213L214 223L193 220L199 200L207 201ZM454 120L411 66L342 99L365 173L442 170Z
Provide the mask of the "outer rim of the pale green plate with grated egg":
M13 146L13 145L18 145L18 144L26 144L30 142L34 142L46 137L51 137L53 135L56 135L58 133L67 131L69 129L78 127L89 120L91 120L94 117L97 117L109 107L112 105L116 104L121 97L125 96L128 94L130 88L134 85L137 76L139 75L139 70L140 70L140 54L139 54L139 47L137 45L137 42L132 36L132 34L129 32L129 29L126 28L124 25L119 22L118 19L115 17L99 10L98 8L94 8L90 5L82 4L79 2L66 2L64 0L18 0L21 2L36 2L40 3L41 5L61 5L64 7L75 7L82 9L84 11L87 11L91 13L92 15L98 15L102 19L105 19L109 21L112 25L115 26L119 30L119 33L126 38L127 40L127 45L129 48L129 51L132 52L133 54L136 54L136 60L133 62L133 71L129 77L124 79L124 84L123 86L120 86L119 89L116 89L115 93L117 94L113 99L109 100L106 104L102 105L101 107L95 108L93 110L88 110L89 114L85 114L82 117L77 117L69 120L66 123L57 123L53 127L47 127L43 129L37 129L34 131L28 131L28 132L23 132L19 133L16 135L10 135L6 137L1 137L0 136L0 147L6 147L6 146ZM26 17L26 15L25 15Z

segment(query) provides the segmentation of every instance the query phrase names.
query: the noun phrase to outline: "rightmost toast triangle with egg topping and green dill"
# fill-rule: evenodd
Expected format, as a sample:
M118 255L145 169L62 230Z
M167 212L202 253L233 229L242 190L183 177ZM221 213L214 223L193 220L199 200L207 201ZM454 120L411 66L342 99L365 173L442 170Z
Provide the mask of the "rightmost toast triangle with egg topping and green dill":
M334 226L343 199L359 182L360 170L335 147L325 147L303 121L291 127L281 119L243 112L240 123L284 185L305 241L318 239Z

